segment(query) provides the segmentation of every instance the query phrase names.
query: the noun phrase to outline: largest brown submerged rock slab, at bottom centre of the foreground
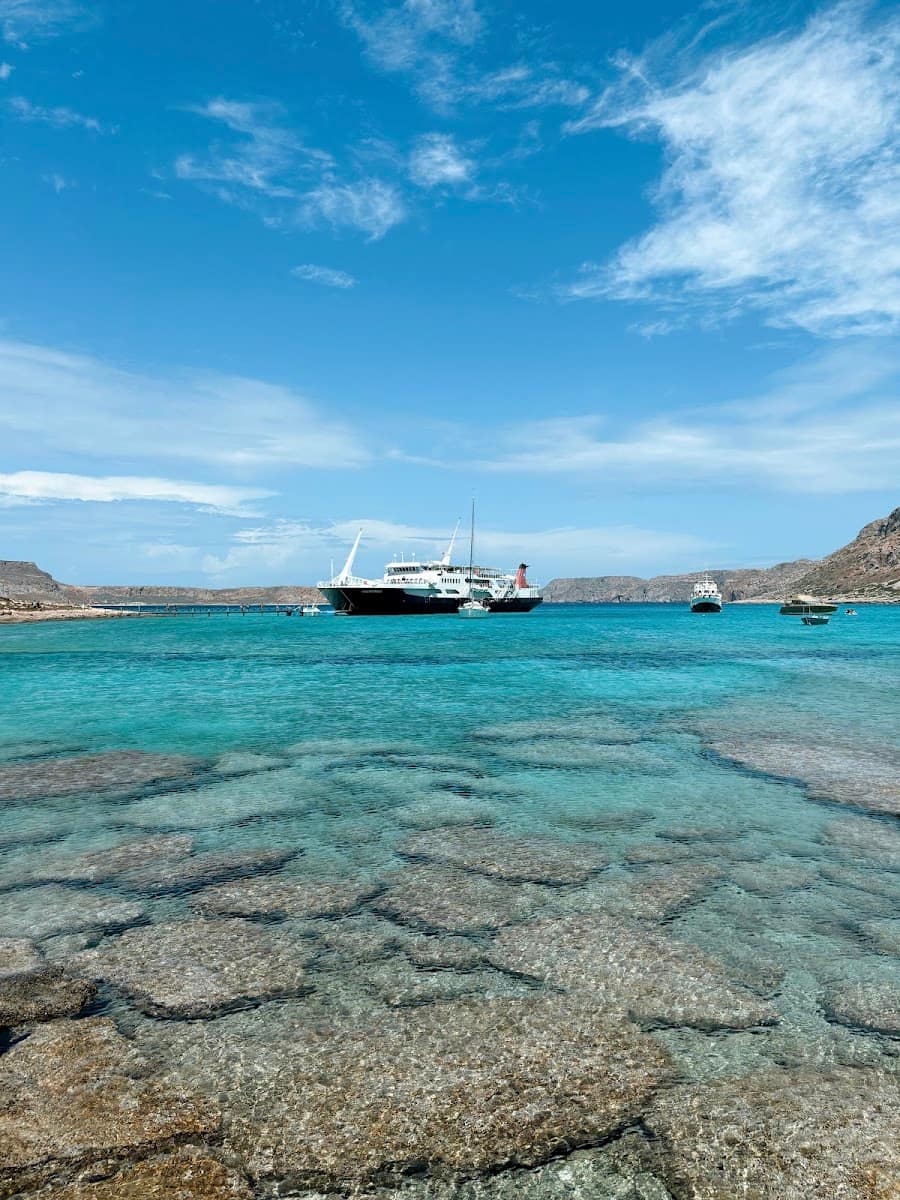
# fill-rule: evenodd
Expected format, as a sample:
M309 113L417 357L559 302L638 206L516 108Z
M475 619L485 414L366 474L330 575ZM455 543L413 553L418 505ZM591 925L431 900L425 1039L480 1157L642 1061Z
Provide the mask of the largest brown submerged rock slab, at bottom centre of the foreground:
M560 997L419 1006L269 1045L187 1033L179 1070L227 1088L226 1147L283 1192L534 1165L623 1128L667 1070L652 1038Z

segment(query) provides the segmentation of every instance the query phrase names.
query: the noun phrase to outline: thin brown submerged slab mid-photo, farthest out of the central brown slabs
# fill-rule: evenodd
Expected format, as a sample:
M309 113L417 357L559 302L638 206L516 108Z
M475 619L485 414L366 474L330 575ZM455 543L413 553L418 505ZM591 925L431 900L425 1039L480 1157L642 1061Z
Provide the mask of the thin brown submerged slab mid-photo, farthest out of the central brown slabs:
M414 834L400 851L410 858L534 883L581 883L610 863L608 856L589 841L516 838L493 829Z

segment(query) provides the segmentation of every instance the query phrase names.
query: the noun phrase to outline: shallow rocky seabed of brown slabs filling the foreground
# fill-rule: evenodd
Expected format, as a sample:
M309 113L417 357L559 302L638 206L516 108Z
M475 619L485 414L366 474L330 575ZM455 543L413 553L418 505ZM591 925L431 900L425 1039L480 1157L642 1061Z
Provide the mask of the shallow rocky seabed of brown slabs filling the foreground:
M892 752L598 710L4 760L0 1198L900 1198Z

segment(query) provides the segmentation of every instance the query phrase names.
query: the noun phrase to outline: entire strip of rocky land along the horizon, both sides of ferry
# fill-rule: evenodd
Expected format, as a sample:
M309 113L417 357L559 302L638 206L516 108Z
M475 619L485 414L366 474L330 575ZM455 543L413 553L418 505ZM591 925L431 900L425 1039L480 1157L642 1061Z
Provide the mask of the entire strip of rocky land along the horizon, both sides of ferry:
M822 559L744 570L710 571L727 602L766 604L787 592L829 596L838 601L900 604L900 508L870 522L848 545ZM690 575L596 575L552 580L546 604L686 604L697 578ZM150 584L92 586L59 583L35 563L0 560L0 617L48 611L76 616L96 605L300 605L322 604L308 584L269 588L174 588ZM100 610L95 612L101 616Z

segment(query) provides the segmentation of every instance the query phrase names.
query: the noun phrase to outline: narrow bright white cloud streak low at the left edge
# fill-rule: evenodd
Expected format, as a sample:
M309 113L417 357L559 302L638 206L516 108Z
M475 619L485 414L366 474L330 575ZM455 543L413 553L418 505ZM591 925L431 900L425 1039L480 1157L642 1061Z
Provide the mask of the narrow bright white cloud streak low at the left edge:
M110 504L115 500L156 500L192 504L236 516L245 514L250 500L271 492L220 484L191 484L175 479L137 475L67 475L47 470L19 470L0 474L0 496L7 503L34 504L48 500L83 500Z

